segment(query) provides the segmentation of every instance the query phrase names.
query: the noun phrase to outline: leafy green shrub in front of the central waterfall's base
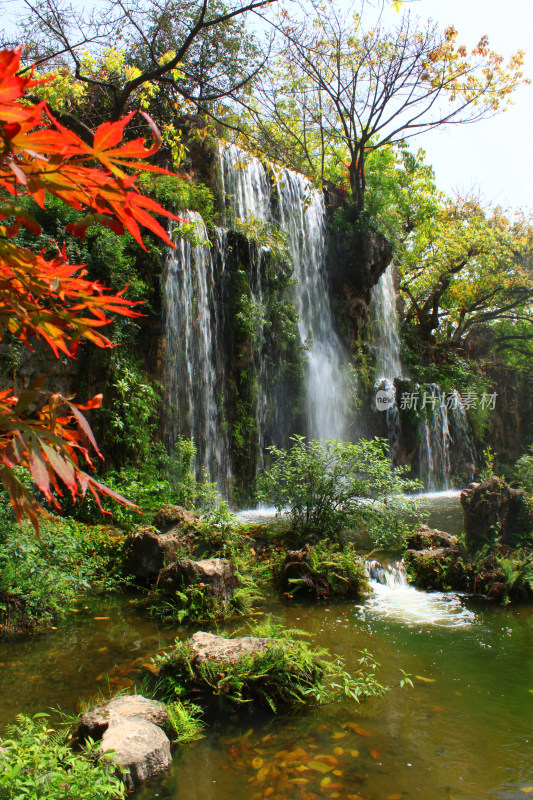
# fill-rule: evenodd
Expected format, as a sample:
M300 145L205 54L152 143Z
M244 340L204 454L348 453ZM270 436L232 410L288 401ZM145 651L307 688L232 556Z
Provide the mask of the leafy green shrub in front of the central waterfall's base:
M407 529L403 497L418 488L391 467L385 439L306 442L293 436L289 450L270 448L271 466L260 476L260 498L271 499L278 515L287 511L298 537L338 537L343 529L364 530L380 541L391 528Z

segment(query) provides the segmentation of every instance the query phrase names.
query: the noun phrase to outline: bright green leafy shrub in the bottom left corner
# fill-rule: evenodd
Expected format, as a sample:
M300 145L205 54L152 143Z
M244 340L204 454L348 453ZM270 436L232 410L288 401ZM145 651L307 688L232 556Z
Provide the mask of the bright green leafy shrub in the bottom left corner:
M88 740L84 750L74 752L66 731L48 727L46 714L20 714L0 759L2 800L94 800L125 796L121 780L114 774L112 754L103 754Z

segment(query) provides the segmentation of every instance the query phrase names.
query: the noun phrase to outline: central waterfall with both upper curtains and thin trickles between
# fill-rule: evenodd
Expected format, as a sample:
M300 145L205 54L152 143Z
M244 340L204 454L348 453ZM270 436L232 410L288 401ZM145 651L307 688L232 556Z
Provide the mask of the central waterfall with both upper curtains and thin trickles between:
M307 430L310 438L343 439L345 436L345 389L342 367L347 363L340 340L334 332L333 315L325 271L326 211L323 194L303 175L283 169L274 178L278 208L272 201L272 184L259 159L236 145L219 154L221 185L226 200L226 220L259 219L267 222L279 216L287 235L295 279L295 305L302 344L308 348L306 362ZM277 215L276 215L277 211ZM260 248L252 285L254 299L261 302ZM255 289L254 289L255 287ZM260 358L256 352L256 358ZM263 375L263 379L261 379ZM264 364L258 365L257 420L271 403ZM277 406L277 404L274 404ZM264 425L259 427L264 430ZM260 446L264 442L260 441Z

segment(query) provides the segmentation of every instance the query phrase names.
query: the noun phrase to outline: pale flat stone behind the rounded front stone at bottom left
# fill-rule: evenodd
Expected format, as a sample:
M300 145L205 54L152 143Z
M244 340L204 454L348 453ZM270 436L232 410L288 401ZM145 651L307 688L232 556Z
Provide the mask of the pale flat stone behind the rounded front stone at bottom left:
M168 720L167 710L158 700L150 700L142 695L114 697L101 706L86 711L79 725L82 739L100 739L107 729L117 721L136 720L151 722L154 725L165 725Z

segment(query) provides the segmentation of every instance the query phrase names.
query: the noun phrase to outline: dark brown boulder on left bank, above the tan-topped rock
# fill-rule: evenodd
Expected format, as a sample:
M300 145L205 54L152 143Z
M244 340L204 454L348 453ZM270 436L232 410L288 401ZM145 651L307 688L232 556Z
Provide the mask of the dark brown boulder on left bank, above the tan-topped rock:
M159 533L155 528L139 528L124 542L124 572L141 581L154 581L163 567L175 561L182 545L179 531Z

